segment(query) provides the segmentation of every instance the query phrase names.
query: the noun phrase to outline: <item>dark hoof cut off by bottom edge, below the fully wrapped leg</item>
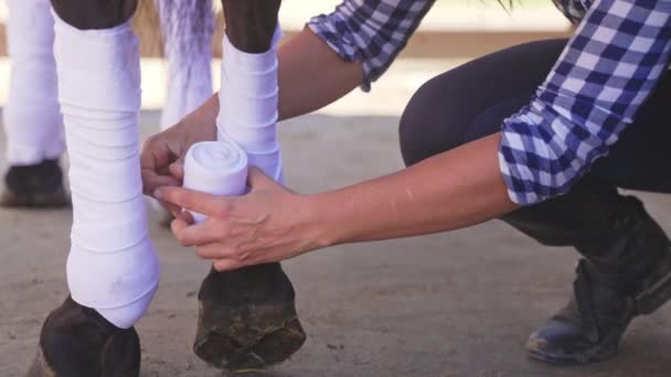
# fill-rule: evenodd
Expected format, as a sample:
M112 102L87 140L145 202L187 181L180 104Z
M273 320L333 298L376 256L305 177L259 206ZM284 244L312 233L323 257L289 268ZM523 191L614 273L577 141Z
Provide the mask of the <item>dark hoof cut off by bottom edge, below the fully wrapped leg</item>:
M135 328L114 326L95 310L67 298L49 314L26 377L137 377L140 341Z

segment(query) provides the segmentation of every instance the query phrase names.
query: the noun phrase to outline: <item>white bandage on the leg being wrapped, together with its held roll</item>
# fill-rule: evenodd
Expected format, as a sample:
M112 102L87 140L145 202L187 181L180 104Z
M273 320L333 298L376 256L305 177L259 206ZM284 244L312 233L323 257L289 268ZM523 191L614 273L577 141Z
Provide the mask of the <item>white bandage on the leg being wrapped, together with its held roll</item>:
M184 187L220 196L242 195L247 165L283 182L276 131L276 45L280 36L278 24L273 47L263 54L244 53L224 36L217 141L191 147L184 161ZM196 223L205 219L202 214L192 215Z

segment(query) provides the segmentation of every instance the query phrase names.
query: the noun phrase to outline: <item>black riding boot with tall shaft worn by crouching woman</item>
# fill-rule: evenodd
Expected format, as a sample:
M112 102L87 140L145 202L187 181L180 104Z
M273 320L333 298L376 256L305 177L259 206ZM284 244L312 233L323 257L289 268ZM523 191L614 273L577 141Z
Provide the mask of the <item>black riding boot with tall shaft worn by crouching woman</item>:
M617 352L639 314L671 298L669 239L640 201L619 195L592 177L568 194L521 208L502 218L548 246L574 246L574 295L531 334L526 348L550 363L588 363Z

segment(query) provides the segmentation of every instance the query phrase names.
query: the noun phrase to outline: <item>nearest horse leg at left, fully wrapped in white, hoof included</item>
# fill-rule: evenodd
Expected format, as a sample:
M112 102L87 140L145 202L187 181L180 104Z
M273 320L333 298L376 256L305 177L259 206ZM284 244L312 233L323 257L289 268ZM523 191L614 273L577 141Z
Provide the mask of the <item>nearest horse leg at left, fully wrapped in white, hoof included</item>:
M132 327L158 287L139 171L137 0L52 0L73 193L71 291L29 376L138 376Z

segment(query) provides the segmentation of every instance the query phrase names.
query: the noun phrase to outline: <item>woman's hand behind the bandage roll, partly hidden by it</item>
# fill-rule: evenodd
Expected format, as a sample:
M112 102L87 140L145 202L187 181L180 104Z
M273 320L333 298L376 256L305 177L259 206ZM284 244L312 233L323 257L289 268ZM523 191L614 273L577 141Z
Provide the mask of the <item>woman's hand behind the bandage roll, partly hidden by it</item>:
M189 148L200 141L216 140L217 112L215 94L180 122L145 141L140 153L145 195L151 196L158 187L182 185L183 161Z

